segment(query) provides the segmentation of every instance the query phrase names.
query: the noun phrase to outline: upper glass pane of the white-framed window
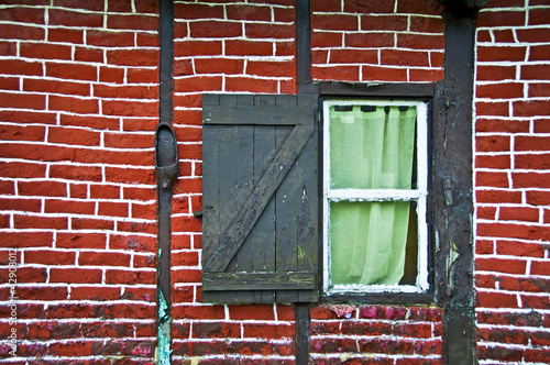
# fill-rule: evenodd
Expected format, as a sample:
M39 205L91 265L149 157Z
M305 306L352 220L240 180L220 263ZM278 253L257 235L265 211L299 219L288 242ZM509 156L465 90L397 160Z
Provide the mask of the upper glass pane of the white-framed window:
M332 106L331 188L410 189L415 107Z

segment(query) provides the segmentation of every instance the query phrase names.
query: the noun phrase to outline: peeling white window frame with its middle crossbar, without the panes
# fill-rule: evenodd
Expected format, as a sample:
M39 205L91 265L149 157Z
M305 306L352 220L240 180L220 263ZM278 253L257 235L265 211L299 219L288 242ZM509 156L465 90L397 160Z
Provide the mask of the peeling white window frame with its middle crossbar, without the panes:
M417 109L417 189L331 189L330 118L332 106L415 107ZM417 100L323 100L323 291L326 295L365 292L426 292L428 284L428 102ZM418 275L416 285L332 285L330 283L330 202L331 201L416 201L418 214Z

